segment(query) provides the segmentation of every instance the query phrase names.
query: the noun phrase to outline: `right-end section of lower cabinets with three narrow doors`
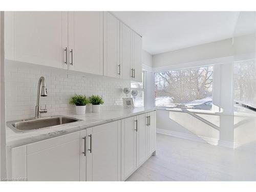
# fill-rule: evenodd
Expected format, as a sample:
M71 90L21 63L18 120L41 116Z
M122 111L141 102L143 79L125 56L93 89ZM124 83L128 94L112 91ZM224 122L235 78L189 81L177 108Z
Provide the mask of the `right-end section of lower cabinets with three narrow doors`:
M156 151L156 111L122 119L121 179L130 177Z

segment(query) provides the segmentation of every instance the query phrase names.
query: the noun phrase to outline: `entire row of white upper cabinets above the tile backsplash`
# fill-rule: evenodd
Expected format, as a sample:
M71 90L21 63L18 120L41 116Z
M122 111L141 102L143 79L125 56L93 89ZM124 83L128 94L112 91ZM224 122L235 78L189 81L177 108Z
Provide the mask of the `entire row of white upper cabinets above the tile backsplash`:
M5 12L5 58L141 81L142 38L110 12Z

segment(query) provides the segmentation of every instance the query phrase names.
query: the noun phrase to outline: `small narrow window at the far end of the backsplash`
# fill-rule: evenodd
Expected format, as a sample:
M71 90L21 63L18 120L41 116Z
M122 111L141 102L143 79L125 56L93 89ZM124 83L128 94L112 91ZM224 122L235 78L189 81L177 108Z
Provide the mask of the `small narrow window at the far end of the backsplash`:
M145 71L142 71L142 82L131 83L131 97L134 100L134 106L144 106L145 102Z

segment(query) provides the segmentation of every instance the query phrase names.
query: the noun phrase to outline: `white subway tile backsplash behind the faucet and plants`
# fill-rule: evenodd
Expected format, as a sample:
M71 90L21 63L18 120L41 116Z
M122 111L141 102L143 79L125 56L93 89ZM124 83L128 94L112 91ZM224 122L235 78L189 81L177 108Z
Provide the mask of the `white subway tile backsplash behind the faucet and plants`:
M46 78L47 97L41 97L41 106L47 104L50 115L69 115L74 106L69 104L74 94L102 95L102 111L122 108L123 88L130 88L129 80L55 69L30 63L6 61L5 67L7 121L34 117L37 83ZM88 109L90 109L90 105Z

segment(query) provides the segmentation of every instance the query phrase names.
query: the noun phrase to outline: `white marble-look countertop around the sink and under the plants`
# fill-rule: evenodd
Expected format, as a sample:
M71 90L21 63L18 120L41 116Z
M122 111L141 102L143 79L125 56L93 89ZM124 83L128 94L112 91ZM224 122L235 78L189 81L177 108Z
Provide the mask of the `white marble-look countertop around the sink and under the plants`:
M81 131L89 127L97 126L100 124L117 121L120 119L140 115L143 113L155 111L154 108L134 108L134 109L121 109L115 111L103 111L99 113L86 113L86 115L68 115L81 119L82 121L74 122L71 124L53 127L51 129L42 129L31 131L27 133L15 133L8 126L6 129L6 145L8 147L15 147L24 144L41 141L68 133Z

